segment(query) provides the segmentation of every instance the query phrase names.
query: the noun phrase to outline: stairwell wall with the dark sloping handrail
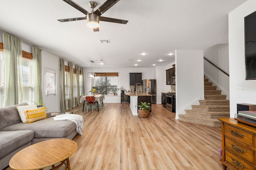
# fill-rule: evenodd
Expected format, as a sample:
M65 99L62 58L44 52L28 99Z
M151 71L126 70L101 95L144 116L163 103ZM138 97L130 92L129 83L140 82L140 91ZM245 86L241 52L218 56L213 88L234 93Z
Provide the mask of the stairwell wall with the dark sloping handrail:
M228 44L216 44L204 50L204 57L229 74ZM221 94L227 95L229 99L229 76L218 68L204 60L205 78L209 78L217 90L222 90Z

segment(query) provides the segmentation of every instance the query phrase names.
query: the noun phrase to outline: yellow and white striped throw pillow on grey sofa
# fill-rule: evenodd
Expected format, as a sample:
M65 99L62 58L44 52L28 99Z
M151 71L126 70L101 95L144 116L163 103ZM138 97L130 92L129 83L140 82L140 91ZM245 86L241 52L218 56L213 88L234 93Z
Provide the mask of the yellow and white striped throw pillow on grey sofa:
M41 107L39 109L32 109L24 111L24 114L26 116L26 123L32 123L34 121L38 121L41 119L46 119L46 107Z

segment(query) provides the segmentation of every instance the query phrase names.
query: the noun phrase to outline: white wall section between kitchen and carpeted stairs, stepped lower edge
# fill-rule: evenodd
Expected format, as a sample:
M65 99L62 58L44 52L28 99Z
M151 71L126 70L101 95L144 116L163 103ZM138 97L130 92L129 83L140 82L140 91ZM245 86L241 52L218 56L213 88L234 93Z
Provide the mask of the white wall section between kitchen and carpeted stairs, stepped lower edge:
M202 50L176 50L176 117L204 99L204 54Z

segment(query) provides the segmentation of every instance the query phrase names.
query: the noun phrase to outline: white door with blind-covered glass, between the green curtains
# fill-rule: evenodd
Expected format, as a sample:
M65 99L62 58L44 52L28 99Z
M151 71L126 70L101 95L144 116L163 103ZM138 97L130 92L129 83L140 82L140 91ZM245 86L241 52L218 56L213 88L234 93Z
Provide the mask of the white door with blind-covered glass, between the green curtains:
M56 70L44 68L44 104L47 111L56 112Z

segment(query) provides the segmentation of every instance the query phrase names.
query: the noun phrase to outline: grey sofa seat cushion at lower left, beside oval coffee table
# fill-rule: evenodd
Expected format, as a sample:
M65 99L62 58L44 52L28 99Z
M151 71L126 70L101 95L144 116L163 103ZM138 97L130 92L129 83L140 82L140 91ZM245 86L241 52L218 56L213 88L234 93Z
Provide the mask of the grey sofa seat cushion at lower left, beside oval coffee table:
M32 141L33 131L0 131L0 159Z

